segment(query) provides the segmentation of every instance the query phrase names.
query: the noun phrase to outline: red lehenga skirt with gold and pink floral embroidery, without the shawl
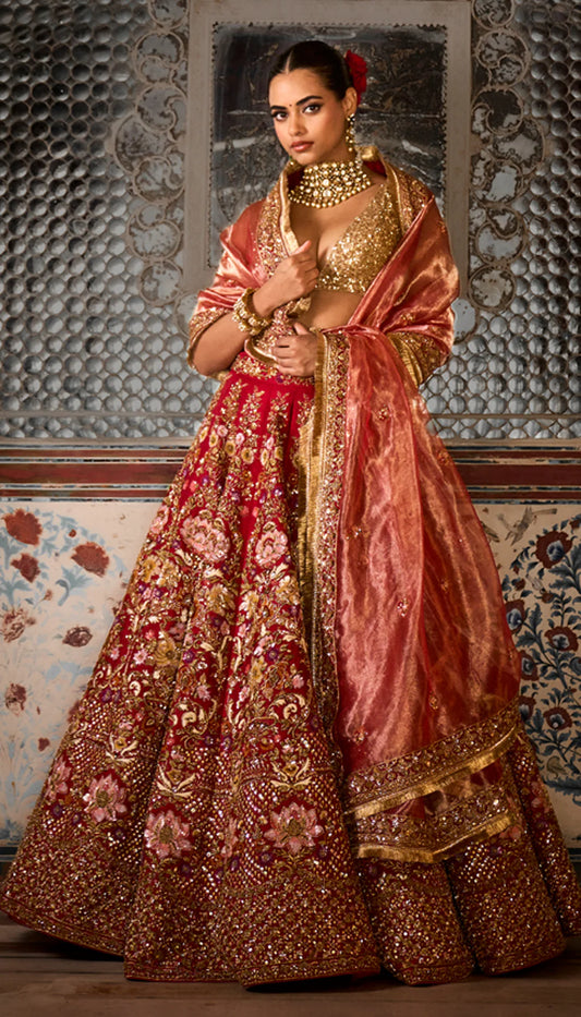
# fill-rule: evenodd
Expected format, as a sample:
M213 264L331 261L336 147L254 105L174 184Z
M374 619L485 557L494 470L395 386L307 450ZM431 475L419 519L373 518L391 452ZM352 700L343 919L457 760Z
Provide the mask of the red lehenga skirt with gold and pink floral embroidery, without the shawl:
M296 578L305 379L242 354L140 554L0 896L130 978L408 982L557 954L580 895L523 738L525 813L436 864L354 860ZM528 823L528 827L526 827ZM534 842L534 847L533 847Z

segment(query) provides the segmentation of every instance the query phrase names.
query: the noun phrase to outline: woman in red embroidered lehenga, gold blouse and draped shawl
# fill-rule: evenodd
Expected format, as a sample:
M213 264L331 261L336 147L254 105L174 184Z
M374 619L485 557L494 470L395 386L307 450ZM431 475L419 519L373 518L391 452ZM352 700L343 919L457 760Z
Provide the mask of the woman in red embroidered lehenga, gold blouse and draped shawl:
M292 161L191 325L227 374L3 891L129 977L439 982L581 931L495 567L416 391L451 343L446 232L354 153L358 99L325 44L274 69Z

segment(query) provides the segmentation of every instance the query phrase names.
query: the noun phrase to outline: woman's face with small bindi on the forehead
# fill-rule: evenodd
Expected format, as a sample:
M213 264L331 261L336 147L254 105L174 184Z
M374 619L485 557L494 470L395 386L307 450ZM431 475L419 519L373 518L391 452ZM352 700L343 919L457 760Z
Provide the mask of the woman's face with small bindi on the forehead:
M358 105L354 88L338 99L315 71L298 69L273 78L268 101L280 144L301 166L352 157L344 129Z

